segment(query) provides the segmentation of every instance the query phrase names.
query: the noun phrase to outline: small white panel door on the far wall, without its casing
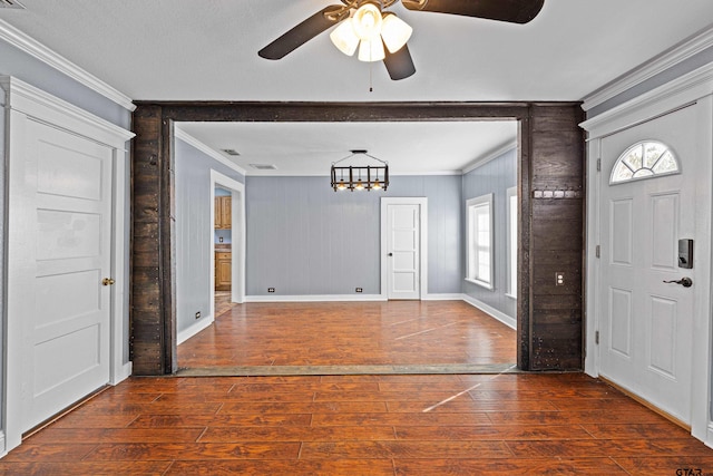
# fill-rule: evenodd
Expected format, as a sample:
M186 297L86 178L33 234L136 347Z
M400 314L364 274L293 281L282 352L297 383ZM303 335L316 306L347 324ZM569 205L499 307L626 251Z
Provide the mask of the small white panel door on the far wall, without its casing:
M420 205L387 206L389 299L420 299Z

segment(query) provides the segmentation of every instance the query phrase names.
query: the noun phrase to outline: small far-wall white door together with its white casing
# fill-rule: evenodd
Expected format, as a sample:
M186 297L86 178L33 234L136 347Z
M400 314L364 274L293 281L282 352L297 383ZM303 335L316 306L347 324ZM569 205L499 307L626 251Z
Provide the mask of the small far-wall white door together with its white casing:
M426 198L381 200L381 294L424 299L428 292Z

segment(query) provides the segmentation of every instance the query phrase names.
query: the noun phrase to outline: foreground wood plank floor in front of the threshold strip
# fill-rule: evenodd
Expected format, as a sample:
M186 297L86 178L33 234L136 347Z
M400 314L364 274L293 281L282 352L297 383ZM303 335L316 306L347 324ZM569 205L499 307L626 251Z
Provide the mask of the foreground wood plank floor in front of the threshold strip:
M580 373L130 378L0 474L711 475L713 450Z

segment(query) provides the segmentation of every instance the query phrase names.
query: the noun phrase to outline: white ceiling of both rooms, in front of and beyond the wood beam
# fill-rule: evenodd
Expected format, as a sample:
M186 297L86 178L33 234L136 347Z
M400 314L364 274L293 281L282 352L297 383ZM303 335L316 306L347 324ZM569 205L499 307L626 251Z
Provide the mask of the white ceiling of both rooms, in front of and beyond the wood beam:
M580 100L713 22L711 0L546 0L525 26L392 8L410 23L417 72L391 81L326 33L284 59L257 51L336 0L21 0L0 19L133 99ZM369 91L370 85L373 91ZM325 169L369 148L392 174L448 172L511 142L502 124L186 125L240 163ZM508 135L509 134L509 135ZM329 158L328 158L329 157ZM310 166L306 165L310 162ZM248 173L252 173L248 171Z

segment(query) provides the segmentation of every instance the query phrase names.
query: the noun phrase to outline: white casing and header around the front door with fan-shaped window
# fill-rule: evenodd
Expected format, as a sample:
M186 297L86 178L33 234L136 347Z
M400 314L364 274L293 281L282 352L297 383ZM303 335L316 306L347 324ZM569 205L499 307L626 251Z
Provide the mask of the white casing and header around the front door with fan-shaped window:
M596 341L602 321L607 312L606 303L600 301L606 283L602 279L604 259L597 255L597 245L605 240L602 232L602 186L597 162L602 157L602 143L612 135L634 128L644 123L675 113L681 108L691 108L693 113L676 125L677 129L687 128L694 133L695 171L687 178L686 188L695 193L695 263L687 270L696 288L693 302L693 330L686 346L691 348L691 434L713 447L713 421L711 420L711 388L713 383L711 331L711 283L712 280L712 187L713 183L713 65L706 65L666 82L648 93L637 96L605 113L598 114L582 124L588 132L587 153L587 294L586 301L586 359L585 371L596 377L600 373L600 347ZM655 137L646 137L654 139ZM681 155L681 154L680 154ZM687 167L686 158L682 158ZM607 176L608 177L608 176ZM608 182L606 182L608 186ZM684 275L684 274L681 274ZM646 398L646 396L644 397Z

